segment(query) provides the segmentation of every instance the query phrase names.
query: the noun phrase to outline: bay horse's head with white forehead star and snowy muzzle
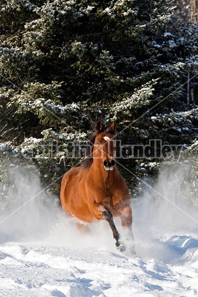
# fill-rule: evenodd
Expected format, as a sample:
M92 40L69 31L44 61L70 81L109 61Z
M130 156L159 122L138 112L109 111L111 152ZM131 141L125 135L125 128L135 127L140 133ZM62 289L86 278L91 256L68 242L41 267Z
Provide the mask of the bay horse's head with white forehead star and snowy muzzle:
M100 121L96 124L97 135L94 142L93 158L103 164L107 171L113 170L115 166L115 122L105 128Z

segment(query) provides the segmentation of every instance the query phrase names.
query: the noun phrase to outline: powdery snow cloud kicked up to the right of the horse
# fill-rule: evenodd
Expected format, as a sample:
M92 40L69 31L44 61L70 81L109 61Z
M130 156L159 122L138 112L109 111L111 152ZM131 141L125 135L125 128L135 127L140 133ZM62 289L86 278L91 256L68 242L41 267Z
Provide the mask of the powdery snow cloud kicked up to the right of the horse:
M173 235L198 235L198 197L192 197L188 179L189 164L177 164L177 170L164 165L157 181L146 189L133 206L134 236L140 257L174 262L179 257L167 238Z

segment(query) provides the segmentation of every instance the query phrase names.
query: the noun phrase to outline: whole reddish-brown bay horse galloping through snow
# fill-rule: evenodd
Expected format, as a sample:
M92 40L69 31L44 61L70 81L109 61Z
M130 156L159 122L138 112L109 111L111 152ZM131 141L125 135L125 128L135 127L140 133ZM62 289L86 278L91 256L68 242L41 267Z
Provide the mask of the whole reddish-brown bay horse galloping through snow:
M136 256L129 189L115 163L116 125L113 122L107 128L98 121L94 128L83 165L70 169L62 178L61 205L66 213L78 219L77 227L82 232L89 231L82 222L107 221L116 247L123 252L126 246L113 222L113 217L120 217L131 254Z

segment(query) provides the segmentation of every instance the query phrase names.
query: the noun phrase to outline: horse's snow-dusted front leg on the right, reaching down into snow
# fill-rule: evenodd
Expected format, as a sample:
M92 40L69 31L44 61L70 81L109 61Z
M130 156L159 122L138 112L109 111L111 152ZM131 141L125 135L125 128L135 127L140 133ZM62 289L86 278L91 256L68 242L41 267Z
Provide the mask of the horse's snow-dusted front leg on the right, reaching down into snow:
M136 250L135 250L135 240L132 231L132 210L131 206L126 206L122 209L121 214L121 224L126 234L126 240L130 243L130 251L132 256L136 257Z

